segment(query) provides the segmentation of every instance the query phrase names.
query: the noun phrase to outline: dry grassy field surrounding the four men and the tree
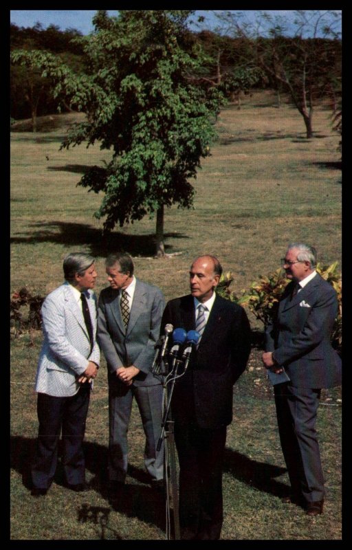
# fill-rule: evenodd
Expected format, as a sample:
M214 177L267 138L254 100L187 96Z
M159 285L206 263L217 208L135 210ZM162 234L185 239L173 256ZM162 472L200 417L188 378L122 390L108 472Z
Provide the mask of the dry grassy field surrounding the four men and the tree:
M63 281L63 257L74 250L96 256L97 293L107 285L104 257L114 250L133 256L137 276L159 285L166 300L188 292L192 259L219 257L234 276L236 294L279 267L291 241L307 241L322 263L342 267L339 136L330 112L316 109L314 138L305 139L298 111L254 94L241 110L229 106L217 122L219 141L195 180L194 210L166 212L165 259L155 259L155 220L116 229L102 240L93 214L101 197L77 187L87 166L109 159L98 146L58 151L63 128L11 135L11 294L27 287L45 295ZM44 130L44 129L43 129ZM253 318L253 329L263 327ZM37 432L33 381L41 333L12 340L10 472L12 540L165 539L165 505L146 485L144 437L133 408L126 498L107 500L104 476L108 440L107 380L102 369L91 397L85 448L91 491L71 494L61 472L45 499L28 489L28 465ZM272 388L253 347L248 369L234 391L223 479L225 520L221 538L234 540L340 540L341 393L325 391L318 415L325 469L326 512L307 518L283 505L288 478L276 428Z

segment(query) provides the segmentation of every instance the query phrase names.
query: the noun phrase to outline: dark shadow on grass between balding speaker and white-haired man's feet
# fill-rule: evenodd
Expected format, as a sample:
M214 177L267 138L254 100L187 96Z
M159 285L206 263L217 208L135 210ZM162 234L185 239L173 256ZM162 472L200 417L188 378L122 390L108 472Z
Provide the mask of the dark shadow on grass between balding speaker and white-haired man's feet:
M230 448L225 448L224 472L228 472L239 481L243 481L259 491L282 498L289 494L289 486L274 478L287 472L286 468L258 462Z

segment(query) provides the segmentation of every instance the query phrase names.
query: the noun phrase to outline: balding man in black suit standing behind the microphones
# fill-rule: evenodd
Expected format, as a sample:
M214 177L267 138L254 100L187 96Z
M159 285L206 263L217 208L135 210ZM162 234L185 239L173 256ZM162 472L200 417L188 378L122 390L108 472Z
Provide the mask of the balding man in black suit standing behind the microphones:
M170 405L184 540L220 537L222 465L226 426L232 421L232 386L250 354L250 324L244 309L214 292L221 272L214 256L195 259L190 268L190 294L170 300L162 318L162 327L171 323L201 334L186 373L175 382Z

